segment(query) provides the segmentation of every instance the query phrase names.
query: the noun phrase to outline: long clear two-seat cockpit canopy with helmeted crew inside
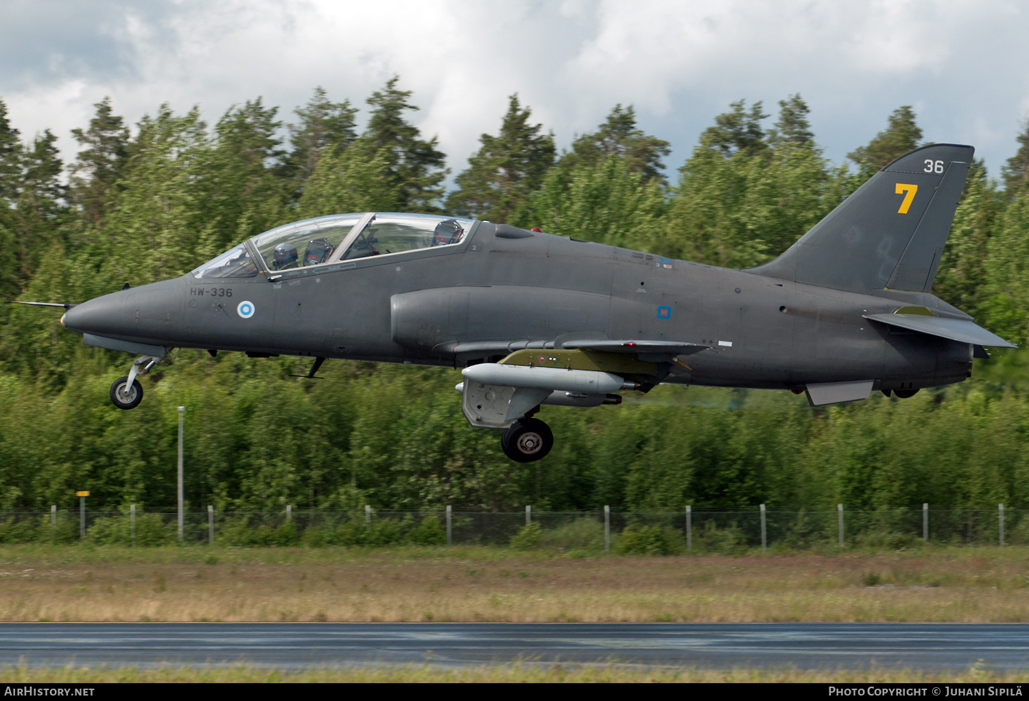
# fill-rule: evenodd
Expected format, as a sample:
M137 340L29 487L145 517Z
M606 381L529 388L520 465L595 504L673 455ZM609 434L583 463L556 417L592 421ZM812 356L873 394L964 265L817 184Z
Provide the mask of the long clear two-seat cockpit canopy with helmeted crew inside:
M255 236L198 268L193 276L246 278L262 271L452 246L461 242L471 224L471 219L393 212L306 219Z

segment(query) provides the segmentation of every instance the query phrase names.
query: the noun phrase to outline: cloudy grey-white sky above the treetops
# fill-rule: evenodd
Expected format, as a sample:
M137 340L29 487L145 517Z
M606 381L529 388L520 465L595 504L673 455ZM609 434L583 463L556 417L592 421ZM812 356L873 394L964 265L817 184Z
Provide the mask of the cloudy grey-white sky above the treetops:
M998 176L1029 116L1029 2L993 0L4 0L0 99L23 137L70 132L110 96L135 122L168 102L213 124L258 96L280 117L316 85L364 100L394 75L455 173L518 93L559 147L615 104L671 142L674 180L729 103L800 93L843 163L900 105L928 141Z

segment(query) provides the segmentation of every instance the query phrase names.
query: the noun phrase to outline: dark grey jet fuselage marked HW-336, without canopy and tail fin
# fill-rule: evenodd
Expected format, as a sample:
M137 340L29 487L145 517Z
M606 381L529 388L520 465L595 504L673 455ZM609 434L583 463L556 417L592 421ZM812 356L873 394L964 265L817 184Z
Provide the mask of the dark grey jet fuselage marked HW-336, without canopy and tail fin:
M489 222L453 246L270 277L187 274L78 305L65 325L164 347L449 366L568 335L675 341L710 349L666 382L770 389L927 387L971 367L968 344L864 318L913 305L968 318L925 292L857 294Z

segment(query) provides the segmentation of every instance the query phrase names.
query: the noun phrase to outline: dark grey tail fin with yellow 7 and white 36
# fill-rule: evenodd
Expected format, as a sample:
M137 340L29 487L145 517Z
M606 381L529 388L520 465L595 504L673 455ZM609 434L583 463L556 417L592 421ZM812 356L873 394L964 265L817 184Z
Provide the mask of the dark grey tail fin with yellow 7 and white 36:
M901 155L785 253L748 272L851 292L928 291L974 152L932 144Z

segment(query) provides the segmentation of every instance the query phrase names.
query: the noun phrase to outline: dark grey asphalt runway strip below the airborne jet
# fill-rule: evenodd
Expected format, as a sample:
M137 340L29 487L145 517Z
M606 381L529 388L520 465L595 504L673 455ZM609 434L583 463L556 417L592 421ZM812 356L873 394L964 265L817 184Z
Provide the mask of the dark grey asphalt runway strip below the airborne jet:
M0 664L150 666L504 662L838 669L1029 668L1029 625L0 624Z

